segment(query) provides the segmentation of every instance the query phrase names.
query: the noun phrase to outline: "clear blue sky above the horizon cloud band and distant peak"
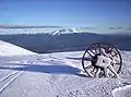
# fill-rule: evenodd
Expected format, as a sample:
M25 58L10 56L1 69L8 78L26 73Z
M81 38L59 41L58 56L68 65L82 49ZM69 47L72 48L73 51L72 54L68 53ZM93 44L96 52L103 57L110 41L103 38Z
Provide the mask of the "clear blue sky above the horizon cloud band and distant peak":
M0 25L131 27L131 0L0 0Z

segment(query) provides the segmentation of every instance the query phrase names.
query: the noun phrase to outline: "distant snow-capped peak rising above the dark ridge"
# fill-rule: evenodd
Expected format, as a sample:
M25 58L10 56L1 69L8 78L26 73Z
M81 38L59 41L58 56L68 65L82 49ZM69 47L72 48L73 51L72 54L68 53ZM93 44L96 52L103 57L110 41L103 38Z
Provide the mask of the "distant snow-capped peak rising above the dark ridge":
M73 33L79 33L79 32L75 28L61 28L58 31L53 31L51 34L60 35L60 34L73 34Z

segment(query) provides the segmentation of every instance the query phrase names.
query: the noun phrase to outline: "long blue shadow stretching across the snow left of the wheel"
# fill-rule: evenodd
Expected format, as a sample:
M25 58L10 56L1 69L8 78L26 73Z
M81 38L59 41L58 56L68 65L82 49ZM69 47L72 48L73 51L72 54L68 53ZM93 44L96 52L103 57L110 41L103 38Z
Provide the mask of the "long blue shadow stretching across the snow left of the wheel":
M44 64L15 64L16 66L0 66L2 70L16 70L28 72L40 72L49 74L72 74L79 76L85 76L80 74L81 70L70 65L44 65Z

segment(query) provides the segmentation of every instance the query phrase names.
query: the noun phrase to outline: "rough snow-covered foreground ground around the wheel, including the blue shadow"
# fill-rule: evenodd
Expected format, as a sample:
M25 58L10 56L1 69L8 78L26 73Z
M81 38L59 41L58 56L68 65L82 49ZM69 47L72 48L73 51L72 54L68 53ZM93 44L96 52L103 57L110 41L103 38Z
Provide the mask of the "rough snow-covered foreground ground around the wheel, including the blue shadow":
M130 51L119 80L87 77L83 52L0 57L0 97L131 97Z

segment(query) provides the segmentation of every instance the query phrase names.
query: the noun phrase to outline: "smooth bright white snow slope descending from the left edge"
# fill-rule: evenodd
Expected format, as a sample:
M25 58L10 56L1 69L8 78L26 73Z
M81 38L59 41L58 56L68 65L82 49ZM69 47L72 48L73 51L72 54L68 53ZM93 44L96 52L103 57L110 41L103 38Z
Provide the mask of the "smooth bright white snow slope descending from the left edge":
M24 56L36 54L29 50L21 48L19 46L0 40L0 56Z

